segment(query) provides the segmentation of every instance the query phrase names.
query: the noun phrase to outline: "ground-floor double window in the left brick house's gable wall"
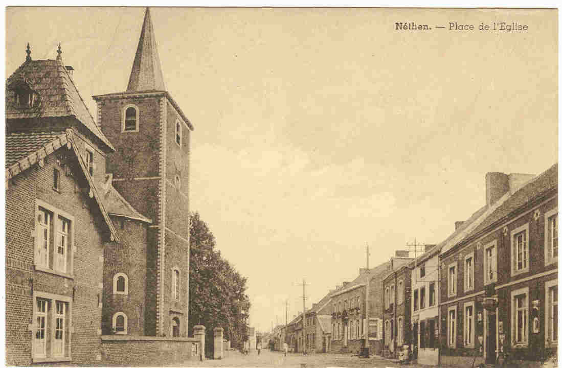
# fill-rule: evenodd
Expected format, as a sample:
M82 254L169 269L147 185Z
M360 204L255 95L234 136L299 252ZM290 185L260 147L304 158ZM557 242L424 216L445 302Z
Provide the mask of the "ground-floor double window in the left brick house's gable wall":
M33 362L70 361L71 298L33 292Z

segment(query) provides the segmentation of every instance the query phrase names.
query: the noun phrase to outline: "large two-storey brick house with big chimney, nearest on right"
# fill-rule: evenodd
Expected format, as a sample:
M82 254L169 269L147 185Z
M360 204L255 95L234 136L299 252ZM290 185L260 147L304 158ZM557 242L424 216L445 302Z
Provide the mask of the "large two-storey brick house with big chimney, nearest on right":
M506 352L538 366L556 353L558 164L528 179L488 173L487 215L441 249L443 364Z

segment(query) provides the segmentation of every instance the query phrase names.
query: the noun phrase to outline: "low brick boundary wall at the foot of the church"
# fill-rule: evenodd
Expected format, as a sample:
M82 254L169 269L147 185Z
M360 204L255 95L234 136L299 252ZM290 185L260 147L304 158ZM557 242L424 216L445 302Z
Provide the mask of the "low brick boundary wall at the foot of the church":
M192 344L197 338L102 336L100 366L164 366L197 359ZM200 347L198 347L200 349Z

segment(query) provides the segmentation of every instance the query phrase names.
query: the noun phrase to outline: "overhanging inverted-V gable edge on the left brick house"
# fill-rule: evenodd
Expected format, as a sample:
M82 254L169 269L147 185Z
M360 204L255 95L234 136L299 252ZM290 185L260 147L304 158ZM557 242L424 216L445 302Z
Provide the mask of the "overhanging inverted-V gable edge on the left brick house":
M112 239L114 239L115 241L119 241L119 237L117 237L117 232L107 214L105 206L103 206L103 202L101 201L101 197L99 196L98 190L96 188L96 185L94 184L92 176L90 176L90 173L88 172L88 170L86 170L86 166L83 161L84 158L78 152L78 147L76 147L73 136L74 133L72 133L72 130L66 129L64 133L57 135L55 139L45 144L43 147L40 147L39 149L37 149L37 151L31 152L27 156L21 157L19 160L12 163L10 166L7 166L6 180L12 179L15 176L21 174L21 172L29 169L29 167L31 167L35 163L39 163L39 165L42 165L41 162L45 157L51 155L51 153L57 151L61 147L66 146L67 148L71 149L72 152L74 152L76 158L78 159L81 171L86 177L86 180L88 181L88 184L90 186L91 196L93 196L96 199L96 202L98 203L99 210L101 211L103 219L105 220L111 232ZM8 148L7 146L7 151L8 150L13 151L12 148ZM6 185L6 189L8 189L8 185Z

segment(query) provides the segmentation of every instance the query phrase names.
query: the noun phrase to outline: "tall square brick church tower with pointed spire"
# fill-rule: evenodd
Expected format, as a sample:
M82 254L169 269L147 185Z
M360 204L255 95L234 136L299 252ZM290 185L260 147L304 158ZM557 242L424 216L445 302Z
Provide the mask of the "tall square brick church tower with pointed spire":
M166 92L148 8L126 91L93 98L98 124L116 149L106 163L112 185L152 220L146 235L146 264L125 262L128 266L123 266L134 268L123 273L146 267L146 287L128 290L123 303L143 305L144 328L140 334L187 336L189 149L193 125ZM138 243L133 226L130 231L121 227L121 232L125 247ZM119 259L105 263L108 269L125 264ZM114 307L119 308L119 303Z

